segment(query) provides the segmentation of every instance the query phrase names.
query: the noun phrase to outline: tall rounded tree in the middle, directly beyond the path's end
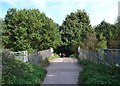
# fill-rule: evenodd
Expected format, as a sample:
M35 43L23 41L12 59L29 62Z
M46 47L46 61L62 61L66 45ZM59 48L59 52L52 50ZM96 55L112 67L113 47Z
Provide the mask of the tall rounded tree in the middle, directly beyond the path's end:
M67 15L60 31L63 43L71 49L71 53L76 53L78 46L84 46L87 33L92 31L88 14L77 10Z

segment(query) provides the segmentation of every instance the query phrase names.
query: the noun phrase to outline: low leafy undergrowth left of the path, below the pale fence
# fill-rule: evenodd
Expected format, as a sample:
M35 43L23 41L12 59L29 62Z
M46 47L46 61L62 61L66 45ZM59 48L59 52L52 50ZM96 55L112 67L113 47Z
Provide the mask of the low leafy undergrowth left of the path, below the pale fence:
M31 63L24 63L14 58L2 61L2 84L41 84L46 75L45 69Z

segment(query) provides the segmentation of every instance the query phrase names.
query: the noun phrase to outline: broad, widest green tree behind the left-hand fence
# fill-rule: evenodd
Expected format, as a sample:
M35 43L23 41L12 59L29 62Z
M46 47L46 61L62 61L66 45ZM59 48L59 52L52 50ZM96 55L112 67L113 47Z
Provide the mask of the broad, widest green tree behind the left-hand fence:
M39 51L60 45L59 28L38 9L9 9L5 16L3 43L12 51Z

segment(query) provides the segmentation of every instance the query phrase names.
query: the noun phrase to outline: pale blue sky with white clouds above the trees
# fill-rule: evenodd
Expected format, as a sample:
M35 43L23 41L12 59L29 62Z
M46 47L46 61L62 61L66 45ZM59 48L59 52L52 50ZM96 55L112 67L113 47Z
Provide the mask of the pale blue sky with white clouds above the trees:
M119 0L0 0L0 18L4 18L9 8L39 9L59 25L71 12L85 10L92 26L105 20L114 24L118 16Z

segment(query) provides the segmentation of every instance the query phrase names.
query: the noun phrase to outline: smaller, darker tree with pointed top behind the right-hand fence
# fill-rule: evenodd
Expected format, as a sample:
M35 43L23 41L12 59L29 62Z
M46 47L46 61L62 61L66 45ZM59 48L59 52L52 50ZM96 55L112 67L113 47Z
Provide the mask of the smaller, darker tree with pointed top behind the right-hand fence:
M107 48L113 48L115 43L114 40L116 40L116 27L113 24L107 23L105 20L103 20L96 28L96 37L98 39L98 44L104 43L104 46L106 44ZM106 41L106 42L102 42ZM99 43L102 42L102 43ZM100 48L100 47L99 47ZM103 47L102 47L103 48Z

